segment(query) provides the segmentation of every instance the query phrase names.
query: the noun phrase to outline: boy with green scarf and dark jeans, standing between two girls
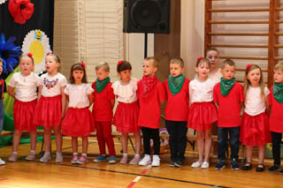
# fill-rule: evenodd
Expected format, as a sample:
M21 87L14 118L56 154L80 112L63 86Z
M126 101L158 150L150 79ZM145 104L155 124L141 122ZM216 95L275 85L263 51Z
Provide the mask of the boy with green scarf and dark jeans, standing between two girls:
M227 139L231 146L231 168L240 169L238 153L240 147L241 107L244 102L243 88L235 81L235 64L226 59L221 67L221 78L213 88L213 100L218 104L218 163L215 169L224 169Z

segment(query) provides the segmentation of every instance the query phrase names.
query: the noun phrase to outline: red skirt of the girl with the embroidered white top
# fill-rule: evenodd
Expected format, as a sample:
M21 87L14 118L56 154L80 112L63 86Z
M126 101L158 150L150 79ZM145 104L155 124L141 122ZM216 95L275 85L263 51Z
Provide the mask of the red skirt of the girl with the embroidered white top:
M36 104L34 124L44 127L54 127L61 124L62 118L61 94L53 97L42 96Z

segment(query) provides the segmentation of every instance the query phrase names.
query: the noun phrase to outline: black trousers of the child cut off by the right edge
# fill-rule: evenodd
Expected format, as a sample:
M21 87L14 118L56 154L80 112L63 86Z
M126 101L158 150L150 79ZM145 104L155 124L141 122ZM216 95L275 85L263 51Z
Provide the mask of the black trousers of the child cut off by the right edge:
M280 158L280 143L282 139L282 133L272 132L272 155L274 159L274 164L280 166L281 158Z

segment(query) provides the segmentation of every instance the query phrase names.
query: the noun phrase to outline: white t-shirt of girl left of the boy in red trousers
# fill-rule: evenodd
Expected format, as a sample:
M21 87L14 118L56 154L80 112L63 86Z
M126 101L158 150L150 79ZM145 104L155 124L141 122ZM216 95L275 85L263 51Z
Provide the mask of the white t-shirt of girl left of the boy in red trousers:
M88 84L67 85L64 93L69 96L69 107L86 108L89 106L88 94L92 94L95 90Z

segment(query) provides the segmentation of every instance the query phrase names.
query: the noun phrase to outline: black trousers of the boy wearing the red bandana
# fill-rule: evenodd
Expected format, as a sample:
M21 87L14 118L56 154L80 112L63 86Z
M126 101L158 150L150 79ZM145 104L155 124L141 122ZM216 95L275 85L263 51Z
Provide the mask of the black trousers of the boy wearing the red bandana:
M143 139L144 154L150 154L150 139L153 139L154 154L159 155L159 151L160 151L159 129L142 127L142 139Z

